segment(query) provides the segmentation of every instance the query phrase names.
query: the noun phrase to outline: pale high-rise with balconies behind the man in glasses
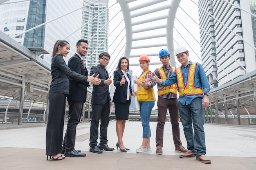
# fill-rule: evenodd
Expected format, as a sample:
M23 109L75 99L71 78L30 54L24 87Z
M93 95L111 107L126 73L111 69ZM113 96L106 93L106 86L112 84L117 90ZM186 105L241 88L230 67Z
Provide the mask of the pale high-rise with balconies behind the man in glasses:
M83 0L83 5L90 4ZM108 47L108 0L99 0L83 7L81 37L88 40L88 53L84 57L85 65L90 68L99 62L99 54Z

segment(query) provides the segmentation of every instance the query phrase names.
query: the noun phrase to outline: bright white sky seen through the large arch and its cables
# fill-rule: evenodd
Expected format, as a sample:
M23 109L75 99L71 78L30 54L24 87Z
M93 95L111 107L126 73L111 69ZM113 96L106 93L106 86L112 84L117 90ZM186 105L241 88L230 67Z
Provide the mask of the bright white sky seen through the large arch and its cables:
M113 72L115 71L116 68L116 64L119 60L120 57L124 56L124 51L125 51L125 43L126 43L126 37L125 37L125 25L124 22L122 22L123 20L123 14L121 12L119 12L121 10L119 4L115 4L116 0L109 0L109 38L108 38L108 52L111 55L111 60L110 63L108 65L108 72L110 73L110 75L113 74ZM144 3L144 0L137 0L135 2L130 3L130 7L132 7L133 5L138 5L140 3ZM198 6L195 5L193 2L195 2L195 0L181 0L180 2L180 8L177 9L177 13L176 13L176 20L174 23L174 49L178 46L178 45L183 45L186 46L189 49L190 52L190 60L193 62L200 62L200 59L198 56L200 56L200 44L198 42L200 42L200 38L199 38L199 26L198 26ZM170 4L171 0L168 0L166 2L164 2L165 4ZM161 4L155 4L151 7L147 7L148 9L150 8L155 8L158 6L162 6L164 3ZM197 3L197 2L195 2ZM113 5L115 4L115 5ZM112 6L113 5L113 6ZM112 7L111 7L112 6ZM141 12L143 10L147 10L145 9L139 9L136 10L133 13L136 12ZM184 10L184 11L182 11ZM163 11L158 11L156 13L152 13L152 14L148 14L146 16L143 16L144 18L151 18L151 17L155 17L157 15L167 15L168 13L168 9L167 10L163 10ZM116 15L116 16L115 16ZM193 21L191 18L193 18ZM114 17L115 16L115 17ZM111 20L111 18L114 18L113 20ZM132 22L136 22L139 20L144 20L144 18L132 18ZM163 22L166 22L166 20L159 20L156 22L152 22L150 24L154 24L154 25L162 25L164 24ZM118 28L117 25L119 24ZM133 26L132 29L136 30L136 29L141 29L144 28L146 26L150 26L147 24L141 24L138 26ZM186 29L187 30L186 30ZM114 33L112 33L112 31L114 30ZM155 33L154 31L157 31L157 33ZM147 35L153 35L153 34L161 34L161 33L166 33L166 29L159 29L159 30L154 30L154 31L147 31L144 33L139 33L139 34L133 34L133 38L140 38L143 36L147 36ZM189 33L190 32L190 33ZM193 36L195 37L193 37ZM155 44L161 44L161 43L166 43L166 37L164 38L155 38L153 40L142 40L142 41L135 41L132 42L132 46L141 46L141 45L151 45L152 43ZM159 51L161 49L167 49L167 46L161 46L161 47L151 47L151 48L146 48L146 49L135 49L132 50L130 55L136 55L137 57L130 57L129 61L130 61L130 70L133 71L133 75L137 75L139 76L142 72L140 66L139 66L139 62L138 62L138 58L140 55L142 54L146 54L146 55L152 55L152 54L158 54ZM126 56L129 57L129 56ZM159 68L160 66L162 66L162 64L159 61L159 57L157 55L155 56L150 56L150 60L151 60L151 65L149 65L149 70L150 71L154 71L156 68ZM159 64L152 64L152 63L156 63L158 62ZM180 64L177 62L176 60L176 66L180 66ZM154 91L155 91L155 96L157 98L157 86L154 87ZM157 108L157 103L155 102L155 106L154 109Z

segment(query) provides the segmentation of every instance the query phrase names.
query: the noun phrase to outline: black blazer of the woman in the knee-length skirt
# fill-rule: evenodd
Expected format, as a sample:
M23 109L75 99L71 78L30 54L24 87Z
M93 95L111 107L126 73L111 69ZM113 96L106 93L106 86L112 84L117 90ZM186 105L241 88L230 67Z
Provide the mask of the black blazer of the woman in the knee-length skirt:
M128 82L126 80L125 84L122 84L120 86L120 82L121 79L123 77L123 72L122 71L114 71L114 86L116 86L116 90L114 93L114 97L113 97L113 102L121 102L121 103L125 103L126 102L126 98L127 98L127 86L128 86ZM130 94L132 94L132 86L131 86L131 78L130 75L127 73L128 78L130 79ZM126 79L126 77L124 76L124 78ZM131 101L131 99L130 99Z

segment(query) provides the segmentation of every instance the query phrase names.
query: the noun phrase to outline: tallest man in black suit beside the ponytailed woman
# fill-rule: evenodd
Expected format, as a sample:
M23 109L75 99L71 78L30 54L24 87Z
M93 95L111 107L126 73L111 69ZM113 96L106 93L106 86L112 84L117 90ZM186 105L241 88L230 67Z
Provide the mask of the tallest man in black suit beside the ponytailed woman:
M76 73L88 76L87 68L83 62L83 56L88 52L88 41L79 40L76 43L76 53L70 58L67 66ZM99 84L100 79L96 79L94 84ZM84 153L80 153L80 150L75 150L76 141L76 126L79 124L81 113L83 110L83 104L86 101L87 87L90 83L83 83L76 79L69 77L70 93L67 96L67 102L69 104L67 122L67 131L63 140L62 152L66 157L85 157Z

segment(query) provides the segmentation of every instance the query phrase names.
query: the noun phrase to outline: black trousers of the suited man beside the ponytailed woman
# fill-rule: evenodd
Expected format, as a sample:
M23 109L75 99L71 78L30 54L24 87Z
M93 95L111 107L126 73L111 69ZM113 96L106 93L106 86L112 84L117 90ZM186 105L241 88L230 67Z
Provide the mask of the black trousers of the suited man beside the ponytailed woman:
M75 147L76 126L80 121L83 110L83 102L68 101L68 104L70 105L68 108L69 119L67 121L67 130L62 145L67 151L72 151Z

